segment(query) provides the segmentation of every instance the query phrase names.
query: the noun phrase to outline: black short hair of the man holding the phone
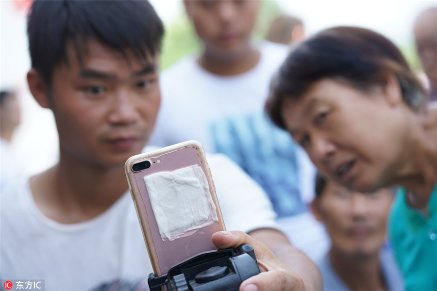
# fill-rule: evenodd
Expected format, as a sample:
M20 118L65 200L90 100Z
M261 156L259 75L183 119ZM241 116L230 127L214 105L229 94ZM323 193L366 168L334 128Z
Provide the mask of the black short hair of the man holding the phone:
M67 44L79 62L89 39L138 59L161 49L164 27L146 0L35 0L27 19L32 67L50 86L55 66L67 61Z

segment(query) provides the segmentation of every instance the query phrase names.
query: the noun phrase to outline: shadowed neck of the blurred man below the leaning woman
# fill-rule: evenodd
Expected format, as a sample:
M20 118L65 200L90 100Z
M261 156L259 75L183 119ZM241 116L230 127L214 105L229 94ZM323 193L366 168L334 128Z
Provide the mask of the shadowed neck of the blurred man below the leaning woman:
M367 258L351 258L331 248L329 258L337 275L350 290L387 290L378 254Z

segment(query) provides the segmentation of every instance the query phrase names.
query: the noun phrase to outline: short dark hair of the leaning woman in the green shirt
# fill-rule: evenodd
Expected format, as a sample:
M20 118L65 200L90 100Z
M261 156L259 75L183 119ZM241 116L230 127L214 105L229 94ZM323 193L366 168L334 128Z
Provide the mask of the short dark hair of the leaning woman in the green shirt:
M270 85L269 117L285 129L281 108L285 98L299 99L324 78L343 81L366 92L384 85L394 74L403 100L414 110L426 105L426 94L403 55L385 36L358 27L334 27L298 44Z

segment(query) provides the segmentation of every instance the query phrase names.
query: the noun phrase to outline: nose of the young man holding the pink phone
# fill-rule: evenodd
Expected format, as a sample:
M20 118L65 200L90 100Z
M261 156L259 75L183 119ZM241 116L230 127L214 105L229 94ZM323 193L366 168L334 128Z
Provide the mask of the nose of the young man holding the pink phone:
M120 90L111 100L109 122L112 124L132 124L136 121L137 110L134 97Z

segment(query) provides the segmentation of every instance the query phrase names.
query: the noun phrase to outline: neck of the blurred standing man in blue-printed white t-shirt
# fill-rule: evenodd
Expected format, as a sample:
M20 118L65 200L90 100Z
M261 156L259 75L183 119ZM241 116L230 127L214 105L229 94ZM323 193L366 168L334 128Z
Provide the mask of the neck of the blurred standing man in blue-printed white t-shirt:
M235 54L212 52L205 49L198 59L205 70L221 76L232 76L250 71L260 60L260 52L249 46Z

